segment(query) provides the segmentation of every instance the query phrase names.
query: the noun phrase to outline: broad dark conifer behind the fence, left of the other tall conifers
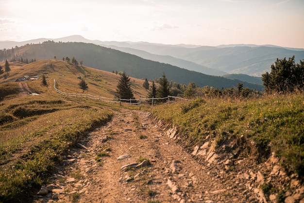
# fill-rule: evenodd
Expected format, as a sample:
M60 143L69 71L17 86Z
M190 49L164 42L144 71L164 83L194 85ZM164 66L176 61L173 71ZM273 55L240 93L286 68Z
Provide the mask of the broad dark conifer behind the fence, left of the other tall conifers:
M135 99L133 95L133 90L131 89L131 83L129 76L123 72L118 80L116 96L120 99Z

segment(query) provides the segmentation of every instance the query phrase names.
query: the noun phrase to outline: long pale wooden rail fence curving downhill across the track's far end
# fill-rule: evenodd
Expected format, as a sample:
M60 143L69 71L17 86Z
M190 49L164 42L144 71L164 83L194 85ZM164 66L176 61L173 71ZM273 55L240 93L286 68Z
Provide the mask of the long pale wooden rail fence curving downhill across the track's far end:
M61 91L60 89L56 88L56 81L54 80L54 89L56 92L69 96L69 97L77 97L77 98L86 98L86 99L92 99L92 100L99 100L99 101L104 101L104 102L111 102L111 103L129 103L129 104L141 104L141 103L149 103L152 104L155 103L156 101L161 101L161 100L167 100L167 102L177 102L178 100L184 100L184 101L189 101L184 98L180 97L174 97L174 96L168 96L164 98L139 98L139 99L120 99L120 98L106 98L106 97L101 97L101 96L95 96L91 94L84 94L84 93L66 93Z

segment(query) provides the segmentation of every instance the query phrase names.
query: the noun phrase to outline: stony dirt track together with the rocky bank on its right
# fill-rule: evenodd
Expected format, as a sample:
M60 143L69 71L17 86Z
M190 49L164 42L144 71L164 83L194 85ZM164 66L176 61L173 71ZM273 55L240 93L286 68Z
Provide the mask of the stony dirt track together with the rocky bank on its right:
M174 127L139 110L121 108L62 158L35 203L266 203L280 195L304 203L304 187L274 156L262 164L246 154L221 157L211 138L186 149Z

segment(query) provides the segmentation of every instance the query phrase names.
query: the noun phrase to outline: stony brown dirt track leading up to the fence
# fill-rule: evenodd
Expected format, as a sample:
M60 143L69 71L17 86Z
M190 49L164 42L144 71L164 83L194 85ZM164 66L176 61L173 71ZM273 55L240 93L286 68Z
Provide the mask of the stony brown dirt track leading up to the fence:
M50 180L52 191L35 202L257 202L245 184L234 177L225 181L223 171L196 161L167 130L150 113L120 109L80 141L83 149L63 157L64 168ZM144 159L148 166L121 169Z

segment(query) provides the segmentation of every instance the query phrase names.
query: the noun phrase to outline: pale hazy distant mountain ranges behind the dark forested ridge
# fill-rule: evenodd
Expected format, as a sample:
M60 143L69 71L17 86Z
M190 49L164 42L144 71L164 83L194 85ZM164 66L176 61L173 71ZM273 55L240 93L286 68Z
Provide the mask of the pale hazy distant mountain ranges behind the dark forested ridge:
M304 49L283 48L274 45L235 44L220 45L217 47L184 44L164 45L148 42L89 40L81 35L72 35L57 39L41 38L25 42L2 41L0 42L0 49L31 43L42 43L47 40L53 40L55 42L93 43L132 54L136 52L141 57L149 60L155 60L161 63L172 63L178 67L210 75L225 75L228 73L261 77L261 74L266 71L270 72L270 66L277 58L288 58L295 55L296 62L304 59ZM146 53L141 51L145 51ZM147 52L150 54L147 54ZM160 55L166 57L160 57Z

